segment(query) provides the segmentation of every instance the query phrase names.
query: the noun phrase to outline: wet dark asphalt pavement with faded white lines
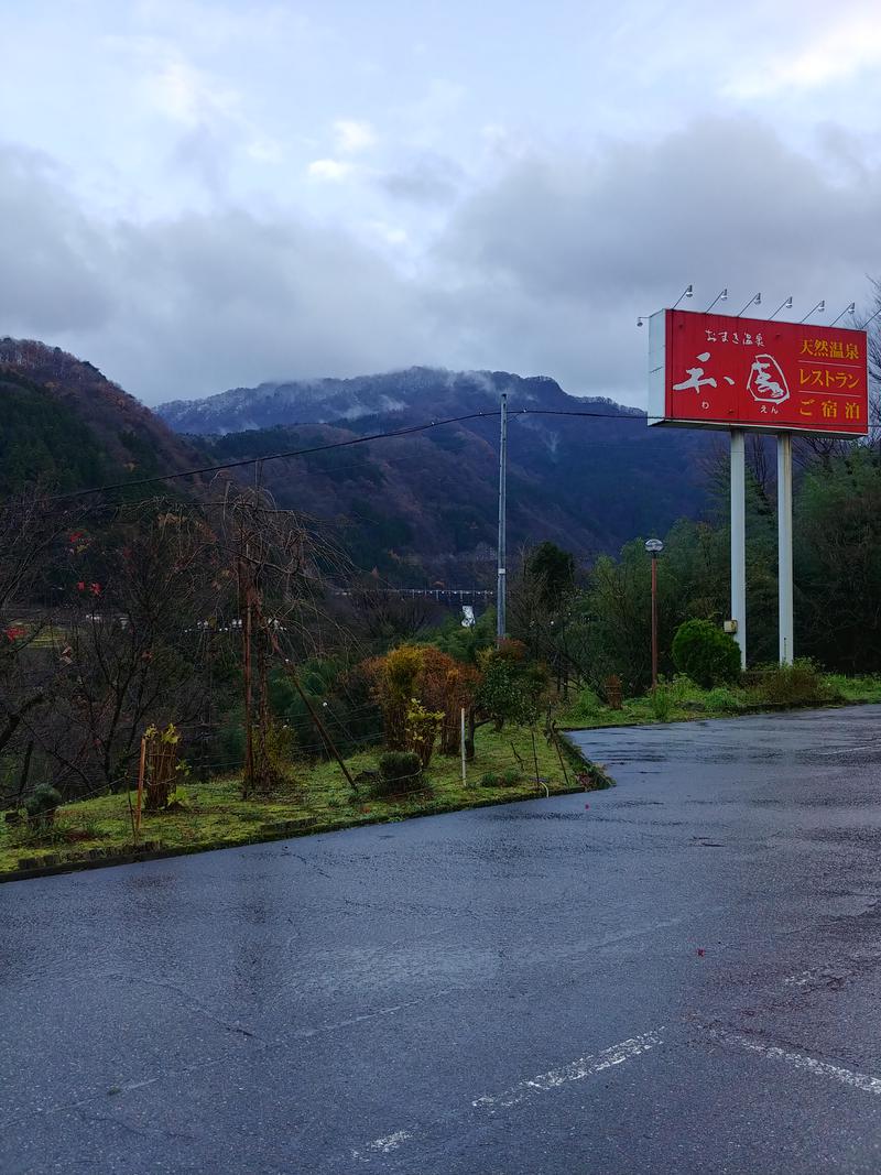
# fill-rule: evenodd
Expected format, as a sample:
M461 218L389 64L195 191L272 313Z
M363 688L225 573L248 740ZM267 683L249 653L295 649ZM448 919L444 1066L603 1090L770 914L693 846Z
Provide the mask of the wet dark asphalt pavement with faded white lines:
M879 1171L881 707L577 738L618 787L0 886L0 1171Z

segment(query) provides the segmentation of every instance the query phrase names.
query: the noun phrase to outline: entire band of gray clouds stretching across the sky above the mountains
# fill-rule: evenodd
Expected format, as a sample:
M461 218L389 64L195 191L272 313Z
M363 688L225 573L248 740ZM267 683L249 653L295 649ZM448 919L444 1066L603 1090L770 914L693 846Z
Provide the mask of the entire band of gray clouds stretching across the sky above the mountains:
M694 309L727 286L732 313L758 289L766 313L793 294L799 316L868 294L881 175L842 167L841 143L853 155L823 128L812 159L729 119L653 146L533 153L460 197L406 274L292 213L106 223L45 159L7 149L0 331L67 347L149 403L410 363L546 374L639 402L635 316L687 282ZM399 195L418 200L418 184Z

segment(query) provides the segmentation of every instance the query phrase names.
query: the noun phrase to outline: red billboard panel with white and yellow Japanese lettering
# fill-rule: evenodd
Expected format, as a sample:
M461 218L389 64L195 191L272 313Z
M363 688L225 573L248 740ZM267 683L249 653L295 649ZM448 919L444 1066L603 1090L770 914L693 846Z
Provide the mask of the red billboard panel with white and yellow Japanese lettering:
M650 424L868 432L865 330L660 310L648 333Z

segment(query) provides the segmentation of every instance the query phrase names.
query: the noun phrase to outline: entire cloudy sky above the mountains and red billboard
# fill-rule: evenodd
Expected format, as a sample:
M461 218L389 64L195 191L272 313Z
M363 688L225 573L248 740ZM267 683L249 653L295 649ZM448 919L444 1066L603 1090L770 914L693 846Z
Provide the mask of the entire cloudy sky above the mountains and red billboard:
M643 404L690 282L870 313L877 0L0 15L0 335L147 403L423 363Z

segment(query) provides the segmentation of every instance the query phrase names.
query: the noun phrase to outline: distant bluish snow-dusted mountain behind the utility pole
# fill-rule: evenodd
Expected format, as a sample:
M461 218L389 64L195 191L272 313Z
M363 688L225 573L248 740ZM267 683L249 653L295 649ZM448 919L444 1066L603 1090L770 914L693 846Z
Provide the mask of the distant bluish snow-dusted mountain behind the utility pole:
M638 410L569 396L546 377L412 368L267 383L157 411L174 428L197 429L218 461L487 414L263 470L280 504L338 519L359 566L404 583L473 583L492 575L502 391L512 548L551 538L587 562L699 512L706 435L650 429Z

